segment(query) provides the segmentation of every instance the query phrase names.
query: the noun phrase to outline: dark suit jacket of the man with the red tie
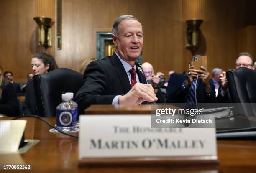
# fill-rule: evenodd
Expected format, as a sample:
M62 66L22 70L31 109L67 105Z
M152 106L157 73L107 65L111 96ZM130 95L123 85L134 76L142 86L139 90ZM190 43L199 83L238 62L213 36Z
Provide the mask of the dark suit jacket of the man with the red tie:
M146 79L136 67L141 83ZM117 95L124 95L131 89L127 73L120 59L114 53L111 57L92 61L84 72L84 85L76 94L75 102L79 106L79 114L91 104L112 104Z

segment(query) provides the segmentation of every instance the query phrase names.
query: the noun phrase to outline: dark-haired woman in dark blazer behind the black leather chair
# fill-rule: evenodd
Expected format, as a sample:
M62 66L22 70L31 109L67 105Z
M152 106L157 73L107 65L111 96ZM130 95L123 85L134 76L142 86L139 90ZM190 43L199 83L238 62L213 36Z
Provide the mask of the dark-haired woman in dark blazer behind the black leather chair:
M58 68L53 56L46 53L38 53L31 60L33 74L44 74ZM33 79L28 80L25 94L25 103L23 105L24 115L37 115L36 98L34 93Z

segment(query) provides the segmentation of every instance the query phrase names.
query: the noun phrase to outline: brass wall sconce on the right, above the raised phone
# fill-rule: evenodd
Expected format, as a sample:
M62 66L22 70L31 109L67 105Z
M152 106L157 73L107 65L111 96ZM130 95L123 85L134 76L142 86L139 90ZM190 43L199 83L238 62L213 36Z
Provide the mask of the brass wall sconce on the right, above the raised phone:
M186 46L185 48L195 51L199 46L199 33L200 25L203 20L201 19L191 19L187 20L187 31L186 31Z

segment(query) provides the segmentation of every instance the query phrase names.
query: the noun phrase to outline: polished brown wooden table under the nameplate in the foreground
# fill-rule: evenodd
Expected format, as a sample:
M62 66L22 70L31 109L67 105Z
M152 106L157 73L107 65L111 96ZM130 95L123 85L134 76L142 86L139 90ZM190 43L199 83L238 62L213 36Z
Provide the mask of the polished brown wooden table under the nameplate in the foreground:
M12 117L0 117L0 120L10 120ZM256 172L256 141L252 140L218 140L217 166L113 166L108 167L79 167L78 166L78 140L63 134L50 133L48 125L35 118L27 120L25 130L26 139L39 139L40 142L27 153L21 155L0 155L0 164L20 163L31 164L32 172L90 172L90 173L170 173L170 172L198 172L201 170L214 172ZM47 117L52 124L55 117ZM74 133L73 135L78 135ZM211 172L211 173L212 173Z

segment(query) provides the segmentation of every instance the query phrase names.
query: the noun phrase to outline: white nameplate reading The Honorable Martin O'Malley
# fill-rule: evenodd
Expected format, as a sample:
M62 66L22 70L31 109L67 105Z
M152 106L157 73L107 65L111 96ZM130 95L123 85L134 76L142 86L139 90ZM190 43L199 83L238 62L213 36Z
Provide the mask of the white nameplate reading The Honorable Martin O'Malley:
M79 160L186 156L217 160L215 128L151 128L151 115L80 115L79 122Z

